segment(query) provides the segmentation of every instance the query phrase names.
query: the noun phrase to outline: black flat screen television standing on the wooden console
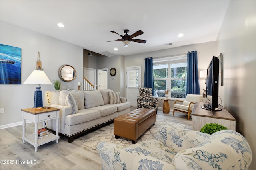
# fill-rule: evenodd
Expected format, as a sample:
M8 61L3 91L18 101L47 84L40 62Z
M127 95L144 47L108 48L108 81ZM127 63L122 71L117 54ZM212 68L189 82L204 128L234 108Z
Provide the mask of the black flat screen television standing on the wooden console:
M206 76L206 98L210 101L205 105L205 109L211 111L219 111L221 108L218 104L219 93L219 63L218 57L213 56L208 68Z

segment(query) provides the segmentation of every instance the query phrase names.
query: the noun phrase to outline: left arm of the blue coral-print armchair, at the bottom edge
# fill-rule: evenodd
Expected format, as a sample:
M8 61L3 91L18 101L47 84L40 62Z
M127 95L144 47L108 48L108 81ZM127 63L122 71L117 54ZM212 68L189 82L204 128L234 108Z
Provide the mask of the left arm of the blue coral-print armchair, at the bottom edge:
M98 155L102 169L135 170L135 169L161 169L174 170L172 164L154 158L127 152L125 147L114 143L100 142L97 145Z

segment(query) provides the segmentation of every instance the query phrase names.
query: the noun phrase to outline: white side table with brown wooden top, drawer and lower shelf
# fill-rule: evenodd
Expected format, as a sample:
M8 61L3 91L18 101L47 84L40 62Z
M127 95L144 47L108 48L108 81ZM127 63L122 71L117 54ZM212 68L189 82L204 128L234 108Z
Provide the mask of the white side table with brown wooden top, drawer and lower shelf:
M31 145L35 147L35 152L37 152L37 148L40 145L44 145L45 143L51 142L56 140L56 143L58 143L59 137L59 119L60 119L60 109L56 108L50 108L50 109L43 109L42 111L33 111L32 108L28 109L21 109L22 111L22 118L23 118L23 143L27 141ZM35 123L35 132L34 134L30 134L26 136L26 119L32 121ZM43 137L41 139L38 139L38 122L42 121L48 121L51 119L56 119L56 135L49 133L47 137ZM43 124L43 127L45 128L45 124Z

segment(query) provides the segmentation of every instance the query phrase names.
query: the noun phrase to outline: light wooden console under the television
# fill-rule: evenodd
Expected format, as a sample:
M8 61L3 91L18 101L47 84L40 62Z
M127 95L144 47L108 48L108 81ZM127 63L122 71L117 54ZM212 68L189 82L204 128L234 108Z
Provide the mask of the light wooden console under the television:
M206 102L196 102L192 110L192 130L200 131L206 123L218 123L230 130L236 131L236 119L222 108L221 111L210 111L202 109L200 106L207 104Z

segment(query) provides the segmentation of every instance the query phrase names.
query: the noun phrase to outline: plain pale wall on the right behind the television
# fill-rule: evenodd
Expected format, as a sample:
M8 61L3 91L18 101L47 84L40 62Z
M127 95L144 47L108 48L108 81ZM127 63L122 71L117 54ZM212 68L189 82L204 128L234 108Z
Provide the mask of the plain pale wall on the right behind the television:
M218 35L223 53L224 103L236 118L236 131L252 149L256 169L256 1L230 1Z

